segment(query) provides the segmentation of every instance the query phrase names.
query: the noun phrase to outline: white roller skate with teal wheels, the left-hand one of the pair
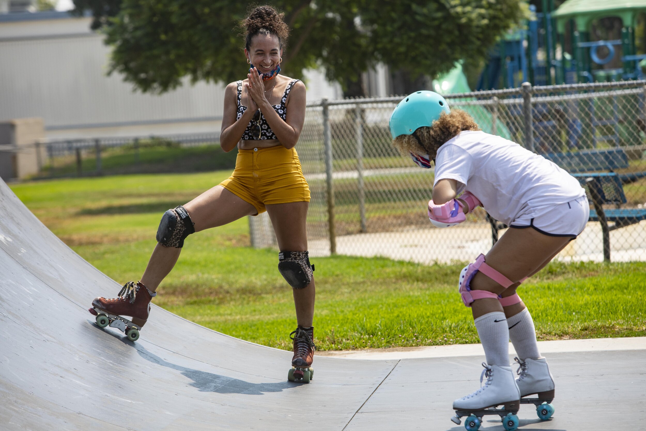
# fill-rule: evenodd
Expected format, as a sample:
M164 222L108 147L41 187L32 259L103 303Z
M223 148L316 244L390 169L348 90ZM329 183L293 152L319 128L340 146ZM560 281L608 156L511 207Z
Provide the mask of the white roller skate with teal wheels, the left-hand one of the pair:
M453 423L461 423L460 418L468 416L464 423L467 431L477 431L482 424L484 415L499 415L507 431L518 428L516 413L520 406L521 394L514 380L514 372L508 366L488 365L483 363L485 370L480 375L481 387L473 394L466 395L453 401L455 416ZM483 377L486 382L483 384ZM496 408L503 405L503 408Z

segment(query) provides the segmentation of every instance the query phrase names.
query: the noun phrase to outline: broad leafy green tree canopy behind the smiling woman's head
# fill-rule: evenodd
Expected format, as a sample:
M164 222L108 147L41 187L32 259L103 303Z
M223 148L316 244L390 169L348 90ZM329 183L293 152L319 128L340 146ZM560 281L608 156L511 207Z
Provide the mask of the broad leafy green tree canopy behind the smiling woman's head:
M112 45L110 72L143 92L191 81L231 82L247 70L239 1L74 0L90 9ZM300 77L322 66L346 95L360 96L360 76L381 61L413 81L462 58L483 58L525 14L521 0L282 0L292 29L283 69Z

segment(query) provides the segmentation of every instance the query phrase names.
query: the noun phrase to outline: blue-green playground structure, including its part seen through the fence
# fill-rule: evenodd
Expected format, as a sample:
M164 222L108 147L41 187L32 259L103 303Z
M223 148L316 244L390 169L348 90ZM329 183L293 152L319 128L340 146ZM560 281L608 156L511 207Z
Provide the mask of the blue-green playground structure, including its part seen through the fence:
M636 28L646 0L567 0L558 8L542 1L542 12L530 6L522 28L496 45L477 82L477 90L644 79L646 52L638 54ZM599 19L621 20L619 39L592 40ZM616 29L618 30L618 29ZM605 52L604 52L605 51ZM553 94L557 94L556 92ZM643 145L643 94L603 101L598 98L533 106L536 149L577 151ZM509 112L520 117L522 112ZM514 132L514 124L506 124ZM505 136L506 137L506 136Z

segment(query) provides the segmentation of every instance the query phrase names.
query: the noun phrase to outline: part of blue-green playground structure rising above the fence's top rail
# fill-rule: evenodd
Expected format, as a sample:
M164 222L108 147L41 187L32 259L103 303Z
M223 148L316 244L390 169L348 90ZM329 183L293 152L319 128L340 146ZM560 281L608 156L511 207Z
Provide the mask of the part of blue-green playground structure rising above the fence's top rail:
M644 78L646 52L638 54L635 35L646 1L567 0L555 8L542 0L542 12L534 5L530 12L492 50L477 90ZM592 40L593 26L608 17L621 20L620 38Z

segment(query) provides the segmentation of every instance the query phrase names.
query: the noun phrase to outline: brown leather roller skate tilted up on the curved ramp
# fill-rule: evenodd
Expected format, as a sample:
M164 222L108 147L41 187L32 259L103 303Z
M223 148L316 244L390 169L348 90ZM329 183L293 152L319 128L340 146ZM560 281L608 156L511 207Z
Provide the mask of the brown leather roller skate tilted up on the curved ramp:
M105 299L95 298L88 311L96 316L96 324L101 328L112 326L123 331L130 341L139 338L139 330L148 320L151 312L151 300L157 295L140 282L129 281L123 285L118 297ZM130 316L131 320L122 316Z

